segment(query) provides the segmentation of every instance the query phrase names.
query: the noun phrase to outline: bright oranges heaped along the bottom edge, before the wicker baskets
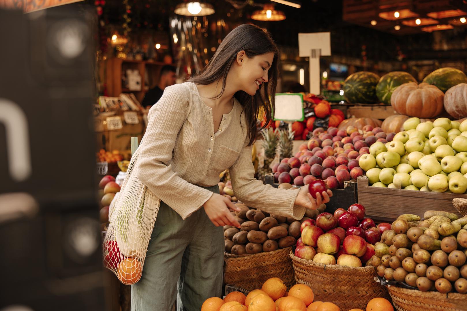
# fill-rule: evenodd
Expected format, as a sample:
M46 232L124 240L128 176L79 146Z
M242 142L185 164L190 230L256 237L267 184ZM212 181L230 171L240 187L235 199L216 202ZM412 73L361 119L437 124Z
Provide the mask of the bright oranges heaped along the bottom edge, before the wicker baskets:
M296 284L287 291L287 286L280 278L272 277L263 283L261 290L252 290L246 296L234 291L224 299L208 298L201 306L201 311L341 311L332 302L313 299L313 290L308 285ZM374 298L368 302L366 311L394 311L394 308L388 300Z

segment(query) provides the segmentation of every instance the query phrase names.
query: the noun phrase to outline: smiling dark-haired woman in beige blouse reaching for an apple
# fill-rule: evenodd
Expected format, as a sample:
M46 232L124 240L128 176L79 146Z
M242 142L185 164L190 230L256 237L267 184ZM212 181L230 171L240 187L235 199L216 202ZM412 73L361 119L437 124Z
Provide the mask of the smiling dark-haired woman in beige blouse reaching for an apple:
M241 25L199 76L167 87L149 111L135 172L163 202L142 278L132 285L132 310L170 311L177 297L178 310L199 311L206 298L220 296L222 227L240 227L229 212L239 209L219 194L225 169L235 196L268 213L301 219L306 208L329 201L330 191L314 200L307 186L275 189L253 177L256 122L261 110L269 122L277 61L269 34Z

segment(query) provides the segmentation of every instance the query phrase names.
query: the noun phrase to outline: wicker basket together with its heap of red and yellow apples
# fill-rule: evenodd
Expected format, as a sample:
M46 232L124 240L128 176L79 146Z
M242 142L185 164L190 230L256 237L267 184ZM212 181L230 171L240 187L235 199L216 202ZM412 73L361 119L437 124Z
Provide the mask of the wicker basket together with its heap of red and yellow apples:
M375 297L389 298L387 289L375 282L371 262L374 244L390 226L376 226L365 218L361 204L304 221L295 251L290 252L296 282L313 286L317 300L333 299L342 310L362 309Z

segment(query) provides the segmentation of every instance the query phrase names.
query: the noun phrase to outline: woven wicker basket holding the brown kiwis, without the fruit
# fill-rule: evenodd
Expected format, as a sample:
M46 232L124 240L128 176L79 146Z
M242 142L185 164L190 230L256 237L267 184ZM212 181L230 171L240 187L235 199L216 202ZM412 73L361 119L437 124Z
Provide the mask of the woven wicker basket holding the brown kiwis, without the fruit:
M290 288L295 284L289 256L291 249L243 256L224 253L224 283L250 291L261 289L264 281L271 277L279 277Z

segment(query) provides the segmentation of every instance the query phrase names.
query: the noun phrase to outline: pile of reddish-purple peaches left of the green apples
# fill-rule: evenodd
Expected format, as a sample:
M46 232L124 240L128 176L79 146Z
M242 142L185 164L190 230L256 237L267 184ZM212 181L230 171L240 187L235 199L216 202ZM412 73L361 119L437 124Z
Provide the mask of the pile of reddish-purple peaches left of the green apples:
M349 126L347 131L322 127L300 146L295 157L285 158L273 166L274 180L280 184L308 185L311 180L325 180L330 189L344 188L344 181L356 180L363 175L358 164L362 154L369 153L375 142L387 143L394 137L385 134L380 127L365 125L363 130Z

